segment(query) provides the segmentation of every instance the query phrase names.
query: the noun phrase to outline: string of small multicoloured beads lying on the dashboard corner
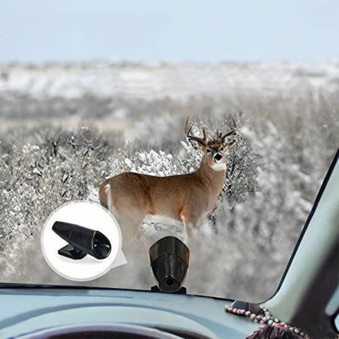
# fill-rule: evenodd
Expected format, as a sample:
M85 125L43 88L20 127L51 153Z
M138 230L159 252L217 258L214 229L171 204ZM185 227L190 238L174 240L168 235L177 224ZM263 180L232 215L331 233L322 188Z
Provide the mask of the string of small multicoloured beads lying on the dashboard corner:
M281 322L278 318L274 318L271 313L267 310L267 308L260 306L261 311L263 312L263 316L261 315L256 315L254 313L251 313L251 311L246 311L241 308L233 308L231 305L227 306L225 305L225 311L228 313L233 313L241 316L245 316L253 320L255 323L260 323L260 324L267 324L269 326L277 326L277 327L282 327L282 328L287 328L288 330L294 332L295 334L299 335L302 338L305 339L310 339L310 337L302 332L300 328L295 327L295 326L290 326L287 325L284 322Z

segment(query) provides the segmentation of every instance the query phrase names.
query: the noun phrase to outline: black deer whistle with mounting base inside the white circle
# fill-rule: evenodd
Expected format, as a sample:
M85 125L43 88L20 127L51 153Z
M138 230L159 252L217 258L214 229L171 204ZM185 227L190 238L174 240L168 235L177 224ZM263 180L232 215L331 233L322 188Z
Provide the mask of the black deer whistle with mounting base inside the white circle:
M99 231L62 221L56 221L52 230L68 242L58 251L64 257L82 259L89 254L96 259L105 259L111 253L111 242Z

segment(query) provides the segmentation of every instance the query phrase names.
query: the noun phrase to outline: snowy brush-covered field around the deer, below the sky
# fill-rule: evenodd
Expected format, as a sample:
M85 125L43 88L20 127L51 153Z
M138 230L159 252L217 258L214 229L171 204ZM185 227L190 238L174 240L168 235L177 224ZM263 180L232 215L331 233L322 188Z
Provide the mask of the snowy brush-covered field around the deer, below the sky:
M0 65L1 281L74 284L44 262L60 204L98 201L122 171L188 173L184 119L238 123L217 209L190 244L191 294L261 301L274 291L339 145L339 61ZM198 129L197 129L198 131ZM128 265L83 285L149 289L148 246L181 230L145 224Z

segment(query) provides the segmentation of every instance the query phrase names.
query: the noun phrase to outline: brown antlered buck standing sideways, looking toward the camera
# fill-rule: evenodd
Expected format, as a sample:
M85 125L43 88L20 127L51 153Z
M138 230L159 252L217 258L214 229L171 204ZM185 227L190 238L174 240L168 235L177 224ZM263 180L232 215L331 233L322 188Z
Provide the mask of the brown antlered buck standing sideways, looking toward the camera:
M203 137L197 137L192 126L187 117L186 137L204 153L194 173L157 177L125 172L100 185L100 203L116 217L124 238L133 238L143 222L183 224L190 238L199 221L213 211L226 175L225 150L235 142L227 137L235 134L236 124L233 120L228 124L231 131L216 132L210 140L205 127Z

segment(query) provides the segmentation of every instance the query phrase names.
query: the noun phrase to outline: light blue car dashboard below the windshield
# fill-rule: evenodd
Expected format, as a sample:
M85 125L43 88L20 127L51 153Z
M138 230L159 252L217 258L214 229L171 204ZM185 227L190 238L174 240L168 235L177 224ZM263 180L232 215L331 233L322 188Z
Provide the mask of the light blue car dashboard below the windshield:
M231 301L101 288L0 288L1 338L245 338L258 326Z

